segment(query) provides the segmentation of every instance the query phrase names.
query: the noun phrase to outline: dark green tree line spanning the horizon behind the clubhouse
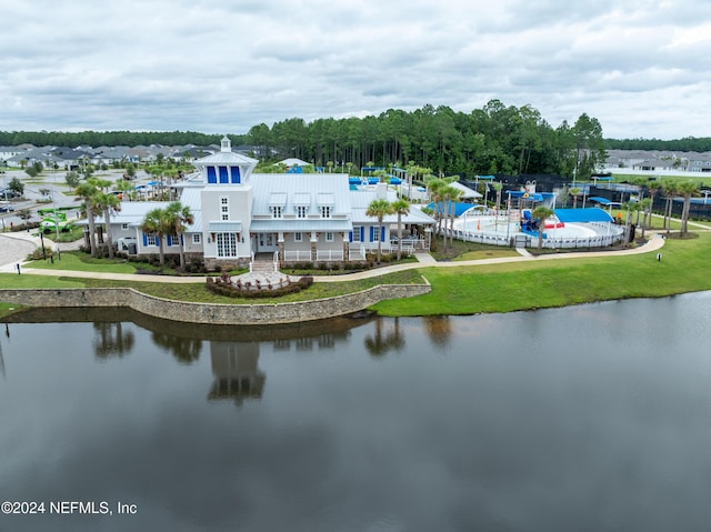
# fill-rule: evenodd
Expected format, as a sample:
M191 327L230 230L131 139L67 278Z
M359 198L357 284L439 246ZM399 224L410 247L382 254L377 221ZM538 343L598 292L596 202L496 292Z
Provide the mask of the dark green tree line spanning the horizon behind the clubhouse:
M0 132L0 145L209 145L221 134L194 131ZM605 149L711 151L711 139L679 141L604 139L602 126L587 113L574 123L552 127L531 106L504 106L491 100L471 112L427 104L414 111L389 109L363 118L323 118L307 122L290 118L247 134L228 134L233 145L254 147L270 162L294 157L330 170L346 167L417 164L434 174L505 173L589 177L605 159Z

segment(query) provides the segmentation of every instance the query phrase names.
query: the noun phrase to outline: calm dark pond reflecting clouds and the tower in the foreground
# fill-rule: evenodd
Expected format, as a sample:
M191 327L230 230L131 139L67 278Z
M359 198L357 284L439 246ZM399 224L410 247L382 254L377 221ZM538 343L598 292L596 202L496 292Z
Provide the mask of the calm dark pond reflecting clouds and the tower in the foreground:
M0 323L0 499L46 512L0 530L708 531L710 317L36 312Z

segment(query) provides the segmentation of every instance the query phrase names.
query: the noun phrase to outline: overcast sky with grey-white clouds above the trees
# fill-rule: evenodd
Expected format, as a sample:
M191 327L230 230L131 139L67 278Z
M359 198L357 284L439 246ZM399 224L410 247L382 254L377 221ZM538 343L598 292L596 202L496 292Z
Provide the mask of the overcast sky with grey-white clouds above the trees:
M0 130L244 133L531 104L710 137L708 0L0 1Z

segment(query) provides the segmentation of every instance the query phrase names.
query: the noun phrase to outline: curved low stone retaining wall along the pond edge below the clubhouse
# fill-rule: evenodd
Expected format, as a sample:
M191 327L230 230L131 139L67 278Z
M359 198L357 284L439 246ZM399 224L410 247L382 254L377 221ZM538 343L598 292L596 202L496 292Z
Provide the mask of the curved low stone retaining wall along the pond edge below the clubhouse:
M189 303L154 298L130 288L8 289L0 301L30 307L128 307L166 320L211 324L296 323L350 314L387 299L430 292L430 284L382 284L338 298L277 304Z

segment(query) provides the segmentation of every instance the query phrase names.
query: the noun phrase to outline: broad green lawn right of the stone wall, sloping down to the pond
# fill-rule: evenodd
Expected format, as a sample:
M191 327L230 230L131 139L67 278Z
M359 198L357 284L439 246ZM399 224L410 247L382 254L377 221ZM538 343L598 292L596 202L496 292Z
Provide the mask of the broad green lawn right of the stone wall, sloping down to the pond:
M421 269L432 292L383 301L383 315L473 314L711 290L711 234L668 240L655 253Z

